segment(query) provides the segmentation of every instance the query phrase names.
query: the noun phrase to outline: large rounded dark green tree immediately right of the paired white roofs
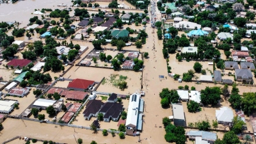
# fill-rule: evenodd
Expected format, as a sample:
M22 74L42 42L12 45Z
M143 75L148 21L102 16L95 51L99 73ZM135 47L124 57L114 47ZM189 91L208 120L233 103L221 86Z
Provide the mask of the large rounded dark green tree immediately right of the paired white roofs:
M220 87L214 86L209 87L207 86L205 90L201 90L201 102L204 106L211 104L212 106L218 104L220 97Z

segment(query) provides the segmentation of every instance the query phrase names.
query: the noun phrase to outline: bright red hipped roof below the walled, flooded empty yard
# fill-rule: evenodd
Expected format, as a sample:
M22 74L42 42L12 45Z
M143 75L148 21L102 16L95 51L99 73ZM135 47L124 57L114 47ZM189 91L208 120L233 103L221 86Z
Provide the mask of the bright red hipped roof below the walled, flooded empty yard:
M89 86L93 86L95 81L86 79L74 79L68 84L68 88L86 90Z

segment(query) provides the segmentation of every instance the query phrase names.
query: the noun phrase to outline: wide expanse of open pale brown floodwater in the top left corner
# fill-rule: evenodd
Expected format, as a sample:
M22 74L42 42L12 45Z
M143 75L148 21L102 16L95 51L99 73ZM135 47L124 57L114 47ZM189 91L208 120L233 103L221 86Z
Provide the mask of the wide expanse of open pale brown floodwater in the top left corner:
M26 0L19 1L15 4L0 4L0 21L17 21L21 22L21 27L26 26L28 24L29 19L35 15L31 14L35 12L35 9L42 8L55 8L63 9L64 7L57 6L58 4L67 4L70 6L71 0ZM37 15L40 17L40 15Z

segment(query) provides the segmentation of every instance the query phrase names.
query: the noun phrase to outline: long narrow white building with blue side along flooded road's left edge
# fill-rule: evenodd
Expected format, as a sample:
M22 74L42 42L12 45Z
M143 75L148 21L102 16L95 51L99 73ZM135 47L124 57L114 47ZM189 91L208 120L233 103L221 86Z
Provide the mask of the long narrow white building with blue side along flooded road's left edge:
M132 94L129 99L127 118L125 122L127 135L133 136L134 131L142 130L143 107L144 100L140 98L140 95L137 93Z

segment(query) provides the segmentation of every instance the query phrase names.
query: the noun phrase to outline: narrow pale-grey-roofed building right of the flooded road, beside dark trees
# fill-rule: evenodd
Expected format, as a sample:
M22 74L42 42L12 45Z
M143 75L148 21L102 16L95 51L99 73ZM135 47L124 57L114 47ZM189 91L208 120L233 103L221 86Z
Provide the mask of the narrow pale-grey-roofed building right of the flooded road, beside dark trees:
M185 114L182 104L172 104L173 124L175 126L186 126Z

